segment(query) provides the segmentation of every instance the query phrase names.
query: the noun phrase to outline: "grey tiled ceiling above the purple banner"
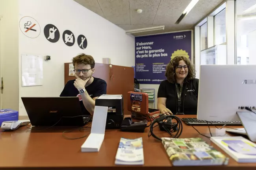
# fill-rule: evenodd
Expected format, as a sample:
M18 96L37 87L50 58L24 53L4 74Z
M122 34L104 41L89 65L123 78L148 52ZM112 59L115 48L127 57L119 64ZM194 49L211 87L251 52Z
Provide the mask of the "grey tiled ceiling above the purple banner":
M164 30L135 33L148 35L193 29L223 0L199 0L179 24L175 24L191 0L74 0L124 30L165 25ZM142 9L142 13L137 13Z

